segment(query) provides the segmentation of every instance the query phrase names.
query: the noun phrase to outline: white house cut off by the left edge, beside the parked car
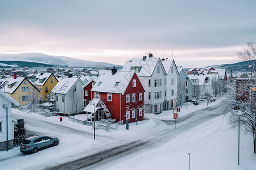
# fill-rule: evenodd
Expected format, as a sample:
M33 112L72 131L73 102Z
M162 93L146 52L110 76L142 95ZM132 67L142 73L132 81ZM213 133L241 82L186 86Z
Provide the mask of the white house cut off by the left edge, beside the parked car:
M12 105L19 106L11 96L0 90L0 151L13 148L14 122Z

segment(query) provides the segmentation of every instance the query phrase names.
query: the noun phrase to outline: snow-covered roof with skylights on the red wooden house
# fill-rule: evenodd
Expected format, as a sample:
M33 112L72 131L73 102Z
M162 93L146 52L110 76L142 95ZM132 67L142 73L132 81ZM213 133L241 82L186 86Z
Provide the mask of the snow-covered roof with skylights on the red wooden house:
M113 94L124 94L135 71L117 71L103 73L92 88L96 92L109 92Z

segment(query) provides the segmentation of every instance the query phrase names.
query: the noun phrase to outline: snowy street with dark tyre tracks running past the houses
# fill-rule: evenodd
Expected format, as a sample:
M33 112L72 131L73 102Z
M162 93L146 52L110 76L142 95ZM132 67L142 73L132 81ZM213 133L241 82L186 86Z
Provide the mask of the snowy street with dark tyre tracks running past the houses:
M130 126L129 130L111 130L110 133L96 130L96 141L93 141L93 130L90 126L70 122L67 118L64 118L64 122L59 122L57 121L59 117L43 117L39 114L14 109L14 118L23 117L28 131L57 136L60 138L60 144L32 155L24 155L19 152L19 148L14 148L9 151L10 157L1 158L0 162L1 164L23 162L27 159L37 162L36 164L13 165L10 169L15 167L18 169L108 168L108 165L126 158L127 155L139 155L151 148L162 146L188 129L220 116L219 108L220 104L217 104L179 118L176 122L176 130L173 120L152 119L143 124L139 122L138 126ZM172 116L172 111L170 111L170 116ZM148 125L143 128L144 124ZM148 128L148 126L152 127Z

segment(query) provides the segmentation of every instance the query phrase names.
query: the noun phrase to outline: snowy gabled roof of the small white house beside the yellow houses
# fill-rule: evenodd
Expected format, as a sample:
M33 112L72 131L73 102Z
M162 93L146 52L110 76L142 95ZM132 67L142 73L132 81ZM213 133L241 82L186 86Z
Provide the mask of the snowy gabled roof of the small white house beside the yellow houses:
M81 81L81 83L84 84L80 78L60 78L51 93L67 94L77 81Z

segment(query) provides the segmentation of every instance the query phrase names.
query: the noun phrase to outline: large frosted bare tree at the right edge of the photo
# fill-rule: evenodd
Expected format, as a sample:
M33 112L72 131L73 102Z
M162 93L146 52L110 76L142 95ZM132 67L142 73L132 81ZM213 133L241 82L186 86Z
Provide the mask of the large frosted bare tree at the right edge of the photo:
M256 59L255 44L247 43L248 48L237 52L238 57L251 64L251 78L236 79L229 88L225 100L225 112L231 112L230 122L233 126L238 124L238 117L244 130L253 134L254 153L256 153L256 84L254 64Z

